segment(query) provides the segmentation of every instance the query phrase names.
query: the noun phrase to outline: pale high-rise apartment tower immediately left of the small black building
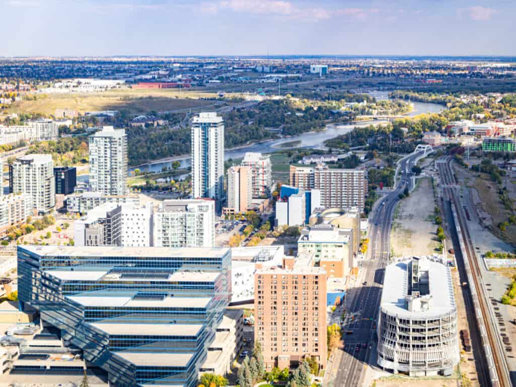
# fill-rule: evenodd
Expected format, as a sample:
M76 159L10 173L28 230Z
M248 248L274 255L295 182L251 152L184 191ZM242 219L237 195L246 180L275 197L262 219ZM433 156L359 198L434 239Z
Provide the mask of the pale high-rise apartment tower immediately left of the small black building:
M54 162L50 154L28 154L9 166L9 190L27 193L38 213L48 212L56 204Z

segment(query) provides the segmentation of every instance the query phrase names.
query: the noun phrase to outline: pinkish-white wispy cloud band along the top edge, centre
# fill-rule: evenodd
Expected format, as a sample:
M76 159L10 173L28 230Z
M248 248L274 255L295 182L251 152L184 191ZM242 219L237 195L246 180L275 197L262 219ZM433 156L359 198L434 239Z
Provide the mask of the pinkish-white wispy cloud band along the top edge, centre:
M379 12L378 9L364 10L362 8L298 7L285 0L220 0L218 2L203 2L200 5L200 10L205 13L231 10L240 13L281 15L289 19L313 22L327 20L335 16L363 20L367 13Z

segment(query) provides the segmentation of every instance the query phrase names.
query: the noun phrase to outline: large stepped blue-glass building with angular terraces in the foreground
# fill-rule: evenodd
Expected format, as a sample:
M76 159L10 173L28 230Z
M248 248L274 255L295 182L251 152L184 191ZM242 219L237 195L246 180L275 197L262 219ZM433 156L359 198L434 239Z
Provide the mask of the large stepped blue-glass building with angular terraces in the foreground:
M231 293L223 248L18 247L19 299L116 386L197 385Z

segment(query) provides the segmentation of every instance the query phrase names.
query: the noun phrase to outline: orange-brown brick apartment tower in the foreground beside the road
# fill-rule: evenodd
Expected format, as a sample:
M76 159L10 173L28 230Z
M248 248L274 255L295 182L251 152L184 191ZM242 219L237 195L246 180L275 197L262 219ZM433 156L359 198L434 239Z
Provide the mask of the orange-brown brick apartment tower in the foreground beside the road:
M326 271L313 254L284 260L283 268L258 268L254 275L254 340L267 370L313 357L326 368Z

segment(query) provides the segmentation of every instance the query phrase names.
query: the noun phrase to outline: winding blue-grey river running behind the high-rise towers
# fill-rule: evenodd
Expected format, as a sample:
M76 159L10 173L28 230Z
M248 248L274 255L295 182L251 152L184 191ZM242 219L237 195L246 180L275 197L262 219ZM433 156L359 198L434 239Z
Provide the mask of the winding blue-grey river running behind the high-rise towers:
M445 108L443 105L434 103L412 102L412 104L414 105L414 109L409 114L407 114L407 116L409 117L413 117L418 114L427 112L438 113ZM285 137L276 140L267 140L259 143L254 143L249 146L229 149L224 152L224 156L227 160L230 158L242 158L244 157L244 154L246 152L272 153L282 149L289 148L323 149L324 142L330 138L346 134L352 131L353 128L357 126L367 126L372 123L378 124L380 122L382 121L368 121L360 124L352 123L345 125L328 124L326 125L325 130L321 132L303 133L297 136ZM181 163L181 168L187 168L190 166L190 156L183 155L178 157L171 157L168 159L156 160L153 163L143 164L137 167L129 168L129 171L134 171L136 168L138 168L142 172L160 172L163 170L164 167L172 168L172 162L176 160ZM184 179L186 178L186 176L188 176L188 174L174 176L174 178L178 180Z

